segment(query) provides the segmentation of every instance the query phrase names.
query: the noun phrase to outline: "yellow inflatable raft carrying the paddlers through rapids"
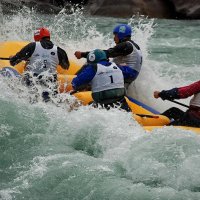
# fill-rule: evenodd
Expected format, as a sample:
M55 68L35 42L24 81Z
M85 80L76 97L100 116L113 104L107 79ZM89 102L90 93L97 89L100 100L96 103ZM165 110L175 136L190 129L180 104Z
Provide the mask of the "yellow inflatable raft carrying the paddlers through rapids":
M28 42L20 41L8 41L0 42L0 57L9 58L12 55L15 55L21 48L23 48ZM17 73L22 74L25 69L25 63L21 62L15 67L11 67L8 60L0 59L0 69L8 67L15 70ZM70 60L69 70L63 70L60 66L57 67L58 72L58 81L60 92L68 92L72 90L71 81L75 77L75 73L80 69L80 66ZM87 105L93 101L91 96L91 91L78 92L74 94L83 105ZM157 111L148 107L147 105L132 99L130 97L126 98L128 105L130 106L134 119L140 123L146 130L151 131L154 128L163 127L170 123L170 120L163 116L159 115ZM181 127L186 130L193 130L200 133L200 128L193 127Z

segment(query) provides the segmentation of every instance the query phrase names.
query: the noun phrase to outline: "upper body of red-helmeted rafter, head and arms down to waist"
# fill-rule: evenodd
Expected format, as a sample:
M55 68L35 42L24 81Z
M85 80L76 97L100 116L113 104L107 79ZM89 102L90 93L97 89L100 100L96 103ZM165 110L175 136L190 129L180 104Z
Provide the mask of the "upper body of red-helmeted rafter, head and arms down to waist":
M34 68L38 68L38 73L40 73L42 68L43 71L49 69L51 71L55 71L58 64L61 65L63 69L69 68L69 60L66 52L51 42L50 32L48 29L39 28L36 30L34 32L34 40L35 42L29 43L15 56L10 58L10 64L12 66L18 64L22 60L25 60L28 61L28 70L33 70L34 66L31 68L30 65L35 65Z

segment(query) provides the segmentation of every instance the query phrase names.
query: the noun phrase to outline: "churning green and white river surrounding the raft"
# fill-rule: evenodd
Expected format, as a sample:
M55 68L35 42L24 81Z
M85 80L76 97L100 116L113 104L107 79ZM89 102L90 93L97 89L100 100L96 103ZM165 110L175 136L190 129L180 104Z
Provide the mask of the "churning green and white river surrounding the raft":
M144 55L135 95L160 112L176 106L152 94L199 80L200 21L86 17L82 11L43 16L23 9L0 14L0 41L32 41L33 30L46 26L75 60L75 50L114 45L112 29L121 22L134 27ZM195 133L173 127L147 133L119 110L30 104L20 87L0 79L1 200L200 199Z

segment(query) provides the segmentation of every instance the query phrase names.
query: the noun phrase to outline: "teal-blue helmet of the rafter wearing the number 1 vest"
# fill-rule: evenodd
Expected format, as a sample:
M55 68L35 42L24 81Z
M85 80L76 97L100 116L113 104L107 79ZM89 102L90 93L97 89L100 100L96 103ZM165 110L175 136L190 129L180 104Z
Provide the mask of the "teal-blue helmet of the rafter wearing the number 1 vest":
M88 63L98 63L101 60L107 60L106 53L103 50L95 49L94 51L90 51L87 55Z

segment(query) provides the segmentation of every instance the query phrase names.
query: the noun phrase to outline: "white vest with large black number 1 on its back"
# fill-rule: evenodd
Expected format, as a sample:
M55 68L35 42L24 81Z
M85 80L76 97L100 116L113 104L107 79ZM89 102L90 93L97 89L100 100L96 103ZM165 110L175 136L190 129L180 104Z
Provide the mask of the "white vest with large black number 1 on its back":
M97 72L91 82L92 92L101 92L110 89L124 88L122 71L115 63L110 66L97 64Z

